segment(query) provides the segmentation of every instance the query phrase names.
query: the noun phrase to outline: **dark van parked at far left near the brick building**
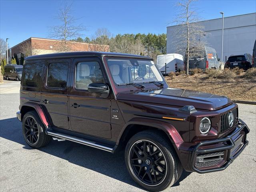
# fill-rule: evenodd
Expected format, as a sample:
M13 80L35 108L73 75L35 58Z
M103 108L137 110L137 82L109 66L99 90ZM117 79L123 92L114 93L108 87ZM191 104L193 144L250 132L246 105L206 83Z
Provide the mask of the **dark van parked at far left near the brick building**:
M6 80L15 79L21 80L23 65L6 65L4 66L4 77Z

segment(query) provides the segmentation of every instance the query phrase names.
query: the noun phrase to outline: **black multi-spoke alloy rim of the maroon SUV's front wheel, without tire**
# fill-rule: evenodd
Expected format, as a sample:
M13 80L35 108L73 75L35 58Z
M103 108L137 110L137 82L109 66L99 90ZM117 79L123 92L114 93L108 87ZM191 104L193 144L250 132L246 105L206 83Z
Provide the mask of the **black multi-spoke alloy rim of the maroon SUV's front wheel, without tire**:
M132 145L129 166L132 174L148 186L161 184L168 171L163 152L149 140L139 140Z

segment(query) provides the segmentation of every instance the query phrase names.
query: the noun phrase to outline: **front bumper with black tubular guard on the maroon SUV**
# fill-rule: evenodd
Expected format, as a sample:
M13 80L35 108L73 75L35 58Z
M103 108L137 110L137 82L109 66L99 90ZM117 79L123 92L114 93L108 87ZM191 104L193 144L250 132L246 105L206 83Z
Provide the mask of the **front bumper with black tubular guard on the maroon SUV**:
M238 126L232 134L225 138L198 143L192 151L191 169L198 173L209 173L226 169L248 145L246 135L249 132L248 126L239 119ZM199 163L200 160L201 163ZM198 167L198 164L206 166Z

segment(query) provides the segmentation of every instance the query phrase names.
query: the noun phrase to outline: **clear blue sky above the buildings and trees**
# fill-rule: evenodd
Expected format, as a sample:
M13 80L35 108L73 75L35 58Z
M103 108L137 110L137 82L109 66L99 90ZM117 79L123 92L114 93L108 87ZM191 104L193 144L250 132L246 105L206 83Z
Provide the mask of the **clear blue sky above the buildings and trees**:
M80 18L86 30L82 38L91 37L98 28L113 35L125 33L166 33L178 14L178 0L66 1L72 3L72 15ZM0 38L9 38L12 47L30 37L51 38L50 28L62 0L0 0ZM255 0L199 0L195 4L202 20L256 12Z

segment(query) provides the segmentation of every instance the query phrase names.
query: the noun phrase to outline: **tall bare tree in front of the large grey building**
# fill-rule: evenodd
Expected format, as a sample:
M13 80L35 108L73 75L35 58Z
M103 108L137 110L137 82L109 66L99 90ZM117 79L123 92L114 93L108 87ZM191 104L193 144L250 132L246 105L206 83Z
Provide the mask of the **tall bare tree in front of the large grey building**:
M183 0L178 3L179 13L173 23L178 24L174 28L173 46L177 53L186 57L186 74L188 74L189 58L199 56L204 50L206 39L204 26L199 21L201 20L196 14L194 2L198 0Z

